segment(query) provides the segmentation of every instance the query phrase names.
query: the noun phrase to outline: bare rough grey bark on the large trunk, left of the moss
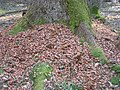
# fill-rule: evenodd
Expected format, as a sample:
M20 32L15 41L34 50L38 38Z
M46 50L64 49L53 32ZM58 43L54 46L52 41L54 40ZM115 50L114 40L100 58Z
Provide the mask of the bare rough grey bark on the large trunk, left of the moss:
M42 19L47 23L68 20L63 0L32 0L29 11L31 19Z

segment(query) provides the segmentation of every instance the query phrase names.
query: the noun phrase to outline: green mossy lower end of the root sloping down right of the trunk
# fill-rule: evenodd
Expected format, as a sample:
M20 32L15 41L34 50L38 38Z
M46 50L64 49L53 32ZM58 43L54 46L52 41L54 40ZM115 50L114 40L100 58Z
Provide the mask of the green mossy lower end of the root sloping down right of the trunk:
M101 64L107 64L108 63L108 59L105 56L105 53L102 50L102 48L96 46L96 47L91 47L90 50L91 50L91 53L94 57L100 59Z

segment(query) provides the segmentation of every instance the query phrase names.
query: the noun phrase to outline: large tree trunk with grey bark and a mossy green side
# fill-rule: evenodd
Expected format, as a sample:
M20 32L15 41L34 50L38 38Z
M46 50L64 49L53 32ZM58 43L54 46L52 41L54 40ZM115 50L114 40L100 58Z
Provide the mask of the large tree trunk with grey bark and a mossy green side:
M31 0L27 17L32 24L65 24L75 34L84 36L87 42L95 45L85 0Z

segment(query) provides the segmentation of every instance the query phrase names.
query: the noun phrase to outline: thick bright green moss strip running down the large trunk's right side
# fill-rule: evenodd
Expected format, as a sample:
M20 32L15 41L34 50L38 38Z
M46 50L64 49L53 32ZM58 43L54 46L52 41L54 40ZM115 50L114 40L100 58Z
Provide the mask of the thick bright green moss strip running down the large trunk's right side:
M66 0L66 8L70 17L68 25L73 32L80 22L91 24L89 11L84 0Z

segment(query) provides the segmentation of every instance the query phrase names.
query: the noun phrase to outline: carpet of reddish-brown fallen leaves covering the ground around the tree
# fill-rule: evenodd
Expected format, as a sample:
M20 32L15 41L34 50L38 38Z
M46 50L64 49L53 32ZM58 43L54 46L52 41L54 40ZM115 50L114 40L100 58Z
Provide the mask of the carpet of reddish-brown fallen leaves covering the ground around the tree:
M0 90L31 90L29 73L38 62L48 62L52 77L45 81L45 90L55 90L62 81L82 84L85 90L120 90L110 79L116 75L112 65L120 64L120 51L115 46L117 34L95 20L96 41L103 48L108 64L94 58L86 42L60 24L34 26L15 36L10 28L0 32ZM63 90L63 89L62 89Z

